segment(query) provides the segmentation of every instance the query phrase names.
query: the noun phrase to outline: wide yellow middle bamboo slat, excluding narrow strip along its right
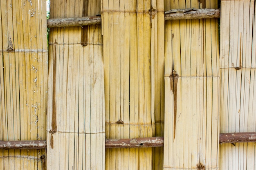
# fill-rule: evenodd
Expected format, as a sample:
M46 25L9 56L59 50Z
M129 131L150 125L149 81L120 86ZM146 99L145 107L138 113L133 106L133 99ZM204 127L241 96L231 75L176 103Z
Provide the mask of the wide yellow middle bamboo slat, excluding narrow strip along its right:
M152 137L151 2L102 0L106 137ZM153 100L154 101L154 100ZM107 149L106 169L152 169L152 148Z

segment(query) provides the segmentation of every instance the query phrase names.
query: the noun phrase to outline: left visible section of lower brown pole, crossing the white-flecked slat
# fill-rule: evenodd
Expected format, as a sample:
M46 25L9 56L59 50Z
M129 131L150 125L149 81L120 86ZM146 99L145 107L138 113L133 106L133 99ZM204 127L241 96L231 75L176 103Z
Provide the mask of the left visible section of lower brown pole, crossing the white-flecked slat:
M44 149L46 140L0 141L0 149Z

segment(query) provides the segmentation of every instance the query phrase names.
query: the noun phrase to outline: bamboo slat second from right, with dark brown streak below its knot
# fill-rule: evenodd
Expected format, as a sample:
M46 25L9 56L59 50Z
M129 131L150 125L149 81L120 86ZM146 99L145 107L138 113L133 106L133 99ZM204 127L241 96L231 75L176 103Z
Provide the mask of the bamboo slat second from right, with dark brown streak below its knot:
M165 9L216 8L165 0ZM164 169L218 169L218 20L165 22Z

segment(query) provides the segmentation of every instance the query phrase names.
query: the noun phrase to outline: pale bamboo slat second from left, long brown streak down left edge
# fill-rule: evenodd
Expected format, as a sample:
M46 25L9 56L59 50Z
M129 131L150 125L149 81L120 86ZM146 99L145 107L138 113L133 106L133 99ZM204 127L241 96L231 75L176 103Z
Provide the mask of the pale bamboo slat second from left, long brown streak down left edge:
M51 1L50 18L100 13L100 0L86 1ZM102 43L101 25L50 29L47 169L104 169Z

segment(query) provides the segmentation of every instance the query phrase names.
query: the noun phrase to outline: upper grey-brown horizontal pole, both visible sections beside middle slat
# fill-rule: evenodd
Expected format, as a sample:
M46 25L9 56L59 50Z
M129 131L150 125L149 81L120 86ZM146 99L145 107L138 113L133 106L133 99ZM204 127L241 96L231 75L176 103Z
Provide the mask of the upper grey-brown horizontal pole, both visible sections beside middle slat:
M172 9L164 12L164 20L190 20L190 19L206 19L220 18L219 9ZM85 26L101 24L101 16L86 16L79 18L52 18L47 19L47 27L65 27L65 26Z

